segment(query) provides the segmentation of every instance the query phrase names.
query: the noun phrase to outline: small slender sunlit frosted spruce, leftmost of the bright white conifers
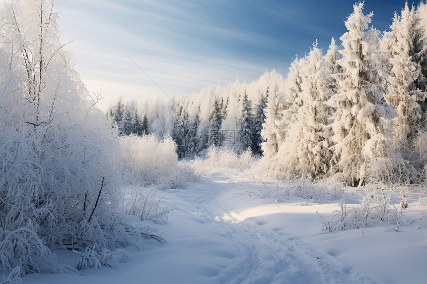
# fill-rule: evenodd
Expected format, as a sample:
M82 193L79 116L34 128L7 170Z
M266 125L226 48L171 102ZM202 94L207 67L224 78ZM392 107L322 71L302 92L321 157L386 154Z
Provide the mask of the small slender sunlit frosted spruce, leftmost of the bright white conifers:
M265 123L262 125L261 135L265 142L261 143L264 157L272 158L279 150L279 145L284 138L282 126L283 96L279 95L279 86L275 84L273 92L269 93L267 108L265 110Z

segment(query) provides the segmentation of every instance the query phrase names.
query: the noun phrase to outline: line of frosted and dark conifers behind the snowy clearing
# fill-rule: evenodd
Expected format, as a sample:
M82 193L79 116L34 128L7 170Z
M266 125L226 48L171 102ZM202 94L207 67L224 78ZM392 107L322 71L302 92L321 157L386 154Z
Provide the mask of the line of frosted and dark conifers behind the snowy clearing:
M354 5L341 46L332 38L324 53L315 42L293 60L287 89L269 86L255 104L244 91L231 111L229 98L213 97L205 119L200 106L194 112L173 103L162 135L173 137L180 158L203 155L212 145L238 153L249 148L269 160L277 177L333 176L354 186L426 180L427 45L419 8L405 3L381 33L369 27L373 14L363 14L363 5ZM114 118L119 129L134 129L124 117ZM159 117L145 119L145 129L166 125L165 117L154 123ZM233 120L230 129L226 119Z

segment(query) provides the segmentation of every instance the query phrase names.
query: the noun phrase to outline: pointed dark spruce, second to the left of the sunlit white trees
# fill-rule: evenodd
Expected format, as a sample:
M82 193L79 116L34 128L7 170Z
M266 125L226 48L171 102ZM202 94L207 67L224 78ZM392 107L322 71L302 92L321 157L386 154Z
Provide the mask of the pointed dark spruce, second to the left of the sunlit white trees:
M245 151L248 147L255 153L255 121L252 113L252 102L248 98L246 90L240 100L239 119L237 120L238 152Z

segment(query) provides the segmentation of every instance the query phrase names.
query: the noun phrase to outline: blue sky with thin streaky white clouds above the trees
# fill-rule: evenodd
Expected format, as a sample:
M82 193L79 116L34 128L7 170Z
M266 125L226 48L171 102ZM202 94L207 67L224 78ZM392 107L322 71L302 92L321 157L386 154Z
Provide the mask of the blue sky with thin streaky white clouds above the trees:
M111 100L199 92L250 82L266 70L287 73L317 40L327 50L346 32L353 0L56 0L61 39L77 57L90 91ZM412 2L410 2L412 4ZM416 2L418 4L418 2ZM367 0L372 24L388 28L404 0ZM340 41L337 41L340 44ZM135 61L138 66L131 60ZM102 85L102 89L101 89Z

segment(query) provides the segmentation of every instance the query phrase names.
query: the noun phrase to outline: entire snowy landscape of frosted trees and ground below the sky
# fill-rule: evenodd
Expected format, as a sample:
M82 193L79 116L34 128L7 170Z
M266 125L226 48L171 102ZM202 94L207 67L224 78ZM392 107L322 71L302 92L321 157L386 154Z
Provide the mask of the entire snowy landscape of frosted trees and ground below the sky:
M379 31L354 4L286 75L105 113L54 3L3 4L0 283L425 282L427 4L402 5Z

